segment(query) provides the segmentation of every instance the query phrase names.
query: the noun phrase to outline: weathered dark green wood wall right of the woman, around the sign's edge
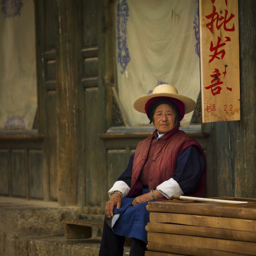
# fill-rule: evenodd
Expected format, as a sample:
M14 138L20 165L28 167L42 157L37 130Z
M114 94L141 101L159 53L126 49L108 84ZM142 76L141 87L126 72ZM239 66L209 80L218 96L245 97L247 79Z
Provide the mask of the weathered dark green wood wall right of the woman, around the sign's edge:
M256 2L238 8L241 120L208 125L207 197L256 198Z

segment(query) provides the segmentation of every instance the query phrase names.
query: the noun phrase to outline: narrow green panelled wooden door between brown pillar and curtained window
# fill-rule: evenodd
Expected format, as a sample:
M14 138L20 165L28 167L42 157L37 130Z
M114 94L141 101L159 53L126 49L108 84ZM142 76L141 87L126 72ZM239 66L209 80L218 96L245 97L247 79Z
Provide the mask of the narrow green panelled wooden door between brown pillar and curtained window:
M104 142L106 131L104 77L103 2L77 2L79 7L79 205L84 212L103 213L107 200L107 167ZM108 53L109 54L109 53ZM111 90L111 89L110 89ZM81 114L80 114L81 113ZM97 208L96 208L97 207ZM97 209L97 210L96 210Z

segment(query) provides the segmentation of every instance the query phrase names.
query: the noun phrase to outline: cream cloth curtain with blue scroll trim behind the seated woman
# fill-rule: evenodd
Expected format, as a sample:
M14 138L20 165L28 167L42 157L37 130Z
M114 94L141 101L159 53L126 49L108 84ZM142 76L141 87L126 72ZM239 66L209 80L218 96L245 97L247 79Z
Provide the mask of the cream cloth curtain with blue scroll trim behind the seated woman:
M117 88L129 124L149 125L133 102L159 84L197 101L198 0L116 0L115 16ZM189 124L192 114L181 125Z

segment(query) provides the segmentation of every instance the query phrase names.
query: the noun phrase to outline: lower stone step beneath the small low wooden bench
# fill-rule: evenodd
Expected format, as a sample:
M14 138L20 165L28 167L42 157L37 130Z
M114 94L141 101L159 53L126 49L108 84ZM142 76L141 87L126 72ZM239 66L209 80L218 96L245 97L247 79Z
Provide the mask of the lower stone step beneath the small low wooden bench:
M19 256L98 256L101 238L66 239L54 237L20 237L17 239ZM123 256L129 255L130 246L124 246Z

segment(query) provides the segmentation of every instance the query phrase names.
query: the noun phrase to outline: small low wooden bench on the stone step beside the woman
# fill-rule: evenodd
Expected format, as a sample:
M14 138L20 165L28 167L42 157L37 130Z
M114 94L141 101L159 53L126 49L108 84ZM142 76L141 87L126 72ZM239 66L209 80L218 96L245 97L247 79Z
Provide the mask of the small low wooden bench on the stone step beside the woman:
M103 228L103 220L62 220L62 223L68 239L91 238L92 227Z

